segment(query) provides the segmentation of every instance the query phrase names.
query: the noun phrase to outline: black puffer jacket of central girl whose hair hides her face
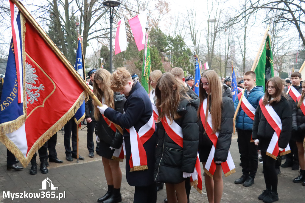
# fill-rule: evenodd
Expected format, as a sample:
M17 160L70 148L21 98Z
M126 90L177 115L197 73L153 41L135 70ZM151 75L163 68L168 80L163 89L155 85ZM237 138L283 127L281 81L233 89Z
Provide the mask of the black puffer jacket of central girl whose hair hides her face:
M193 173L198 151L197 112L199 98L188 94L192 100L183 99L177 109L181 118L174 120L182 128L183 148L166 133L162 123L157 123L158 144L154 179L163 183L181 183L182 172Z

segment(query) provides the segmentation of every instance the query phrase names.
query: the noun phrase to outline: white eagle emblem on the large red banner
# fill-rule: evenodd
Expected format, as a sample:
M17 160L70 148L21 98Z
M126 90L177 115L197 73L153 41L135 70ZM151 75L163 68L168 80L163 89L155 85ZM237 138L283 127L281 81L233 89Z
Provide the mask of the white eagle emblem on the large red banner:
M44 91L43 84L38 86L34 86L36 84L35 80L38 80L38 76L35 74L36 70L33 68L31 64L25 62L25 91L27 93L27 102L33 104L35 101L38 101L38 97L40 97L39 91Z

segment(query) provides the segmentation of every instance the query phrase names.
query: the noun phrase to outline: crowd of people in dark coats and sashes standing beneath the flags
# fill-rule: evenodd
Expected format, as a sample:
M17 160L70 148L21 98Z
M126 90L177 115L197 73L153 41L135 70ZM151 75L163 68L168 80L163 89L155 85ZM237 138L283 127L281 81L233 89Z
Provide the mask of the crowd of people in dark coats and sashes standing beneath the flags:
M227 166L232 159L229 148L236 111L242 176L234 183L253 185L261 157L266 187L257 197L267 203L278 201L277 169L286 156L282 167L300 167L293 182L305 186L305 83L301 83L300 73L292 73L292 85L290 80L272 77L264 90L263 86L256 86L256 74L248 71L238 82L235 101L230 78L220 78L214 70L202 74L199 94L193 91L193 77L185 77L179 67L170 73L152 71L149 94L138 75L131 75L124 67L112 74L106 69L92 69L88 76L89 85L102 103L98 106L90 98L85 105L89 157L94 157L95 132L95 150L102 156L108 186L98 202L122 201L119 162L124 156L127 182L135 187L135 203L156 202L157 190L163 188L163 183L165 202L189 202L191 174L198 158L204 168L202 178L208 201L220 202L224 188L222 171L225 176L235 172ZM74 117L64 130L66 160L73 161L77 150ZM38 150L41 173L48 173L47 160L63 162L57 158L56 136ZM7 169L22 169L16 162L8 151ZM36 173L35 154L30 174Z

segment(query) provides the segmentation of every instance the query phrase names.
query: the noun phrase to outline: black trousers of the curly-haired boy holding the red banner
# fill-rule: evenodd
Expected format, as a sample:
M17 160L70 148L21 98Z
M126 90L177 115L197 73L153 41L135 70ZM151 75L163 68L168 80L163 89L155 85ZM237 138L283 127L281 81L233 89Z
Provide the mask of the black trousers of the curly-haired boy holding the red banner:
M135 186L134 203L156 203L157 185Z

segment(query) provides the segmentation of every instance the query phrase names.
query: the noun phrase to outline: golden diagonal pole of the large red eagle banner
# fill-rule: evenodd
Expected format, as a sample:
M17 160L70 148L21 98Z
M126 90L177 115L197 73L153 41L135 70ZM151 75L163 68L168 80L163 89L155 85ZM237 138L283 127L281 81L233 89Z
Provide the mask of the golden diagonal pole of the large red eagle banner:
M38 25L36 20L31 16L31 14L27 11L27 9L23 6L23 4L18 0L11 0L17 8L20 10L20 12L23 14L23 16L32 24L32 26L38 31L38 33L41 35L41 37L45 40L45 42L52 48L54 53L58 56L58 58L66 65L67 69L70 70L72 75L78 80L78 82L81 84L81 86L84 88L84 90L89 94L89 96L92 97L94 102L98 106L103 106L102 103L99 101L99 99L93 94L90 87L85 83L85 81L81 78L81 76L77 73L77 71L74 69L74 67L71 65L71 63L66 59L66 57L63 55L62 52L57 48L57 46L54 44L54 42L50 39L50 37L45 33L45 31ZM123 134L123 130L120 126L114 123L116 128L120 131L121 134Z

